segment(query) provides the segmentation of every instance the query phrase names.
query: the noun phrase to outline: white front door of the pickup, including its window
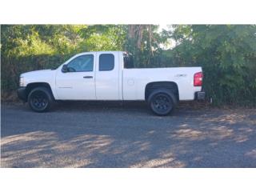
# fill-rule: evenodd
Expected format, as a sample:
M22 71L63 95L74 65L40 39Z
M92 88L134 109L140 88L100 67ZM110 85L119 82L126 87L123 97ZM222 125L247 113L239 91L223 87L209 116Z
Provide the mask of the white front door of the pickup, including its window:
M62 67L56 74L56 93L63 100L94 100L95 94L95 54L79 54L66 63L68 71Z

